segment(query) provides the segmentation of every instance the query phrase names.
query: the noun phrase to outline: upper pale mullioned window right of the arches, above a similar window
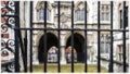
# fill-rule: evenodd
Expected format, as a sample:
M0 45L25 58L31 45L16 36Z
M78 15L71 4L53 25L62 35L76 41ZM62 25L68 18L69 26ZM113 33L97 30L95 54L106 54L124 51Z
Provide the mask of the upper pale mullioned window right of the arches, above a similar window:
M101 5L101 20L109 21L109 17L110 17L109 4L102 4Z

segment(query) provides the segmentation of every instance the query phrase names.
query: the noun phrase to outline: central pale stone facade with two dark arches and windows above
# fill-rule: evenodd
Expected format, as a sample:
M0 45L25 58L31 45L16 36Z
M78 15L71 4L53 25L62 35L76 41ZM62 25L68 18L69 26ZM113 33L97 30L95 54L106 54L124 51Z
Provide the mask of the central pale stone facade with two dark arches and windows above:
M40 10L41 8L43 8L43 2L39 1L39 2L35 2L36 4L34 4L34 13L36 13L37 15L35 15L35 23L42 23L43 22L43 18L41 17L40 20ZM61 28L72 28L70 25L72 25L72 17L70 17L70 2L61 2ZM106 17L105 15L107 15L108 17L107 18L103 18L102 17L102 22L101 22L101 28L109 28L109 3L108 2L104 2L103 4L106 4L106 5L103 5L104 9L108 10L108 13L107 12L104 12L104 17ZM87 26L88 28L98 28L98 15L96 15L96 11L98 10L93 10L94 8L96 8L96 2L92 2L92 1L89 1L88 2L88 5L87 5ZM106 7L106 8L105 8ZM75 13L74 13L74 28L84 28L84 11L83 11L83 8L84 8L84 2L83 1L79 1L79 2L75 2ZM48 28L57 28L57 2L53 2L53 3L50 3L48 2L48 10L47 11L49 13L49 17L47 17L47 27ZM102 10L102 9L101 9ZM105 14L107 13L107 14ZM42 13L41 13L42 14ZM47 14L48 16L48 14ZM34 25L35 28L38 28L38 27L43 27L43 24L35 24ZM55 30L48 30L47 32L48 35L47 35L47 41L48 41L48 50L55 46L57 48L57 32ZM77 61L78 62L82 62L83 59L80 59L80 58L83 58L83 42L84 42L84 32L83 30L74 30L75 35L74 35L74 38L75 38L75 41L74 41L74 48L76 49L76 52L77 52ZM62 30L61 32L61 63L66 63L66 49L70 46L70 35L72 33L68 32L68 30ZM101 35L104 35L104 36L109 36L109 33L101 33ZM43 47L39 47L40 45L42 46L42 41L40 42L41 38L43 36L43 32L42 30L39 30L39 32L34 32L34 52L36 53L35 58L38 62L40 58L38 57L41 57L39 55L40 51L43 49ZM98 38L98 35L96 35L96 32L88 32L88 42L87 42L87 46L88 46L88 61L95 61L95 57L96 57L96 50L98 50L98 42L96 42L96 39ZM55 40L54 40L55 39ZM53 41L53 44L52 44ZM52 44L52 45L50 45ZM108 46L108 45L107 45ZM103 47L105 48L105 47ZM108 50L108 49L107 49ZM104 51L104 50L103 50ZM104 55L108 54L107 53L102 53ZM34 59L35 59L34 58ZM41 61L42 62L42 61Z

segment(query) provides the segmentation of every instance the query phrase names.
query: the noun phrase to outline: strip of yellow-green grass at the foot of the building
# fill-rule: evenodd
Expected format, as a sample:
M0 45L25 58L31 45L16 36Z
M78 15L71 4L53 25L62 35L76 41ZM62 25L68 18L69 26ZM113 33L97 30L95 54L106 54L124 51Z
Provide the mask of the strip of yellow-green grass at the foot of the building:
M65 64L65 65L61 65L61 72L62 73L70 73L70 64ZM41 73L43 72L43 64L40 65L34 65L32 66L32 71L35 73ZM57 73L57 64L48 64L47 66L47 71L48 73ZM83 73L84 72L84 64L81 63L76 63L75 64L75 70L76 73ZM96 73L98 72L98 65L96 64L88 64L88 72L89 73ZM102 73L107 73L107 70L105 67L101 67L101 72Z

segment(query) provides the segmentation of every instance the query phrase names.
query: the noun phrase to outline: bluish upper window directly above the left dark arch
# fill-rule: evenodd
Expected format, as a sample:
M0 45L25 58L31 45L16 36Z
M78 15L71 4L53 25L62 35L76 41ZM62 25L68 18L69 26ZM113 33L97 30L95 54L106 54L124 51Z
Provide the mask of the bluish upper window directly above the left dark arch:
M44 21L44 8L40 8L39 10L39 20ZM47 8L47 20L50 20L50 10Z

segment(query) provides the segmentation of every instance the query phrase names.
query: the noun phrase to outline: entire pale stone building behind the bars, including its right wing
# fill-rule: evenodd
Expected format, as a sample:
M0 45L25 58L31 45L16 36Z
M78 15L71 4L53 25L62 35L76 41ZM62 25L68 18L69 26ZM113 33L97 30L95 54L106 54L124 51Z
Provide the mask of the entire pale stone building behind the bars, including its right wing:
M84 28L84 2L83 1L74 1L74 28ZM122 2L114 1L114 29L122 29L120 22L121 16L120 12L122 10ZM127 29L130 29L130 2L127 2L128 7L128 26ZM20 22L21 27L30 27L28 24L30 18L29 14L32 12L32 24L34 28L44 27L43 25L43 12L44 12L44 2L43 1L34 1L32 11L29 10L29 1L20 1ZM70 1L61 1L61 28L72 28L72 2ZM110 28L110 2L101 1L100 9L101 17L101 28L109 29ZM47 27L48 28L57 28L57 2L47 3ZM88 0L87 1L87 28L96 29L98 28L98 1ZM24 38L24 32L22 32ZM70 30L61 30L60 32L60 48L57 48L57 30L48 30L47 32L47 52L48 52L48 62L57 62L57 50L61 50L61 64L67 64L70 58ZM87 60L89 64L96 63L98 55L98 32L87 32ZM127 63L129 63L129 49L130 49L130 32L127 32ZM101 32L101 57L109 59L109 32ZM114 32L114 60L121 62L122 61L122 34L119 32ZM13 35L12 35L13 37ZM29 32L28 32L29 40ZM32 63L40 64L43 63L42 52L43 52L43 30L34 30L32 32ZM13 37L14 38L14 37ZM28 41L28 46L30 42ZM30 49L30 47L27 47ZM84 32L83 30L74 30L74 53L76 62L82 63L84 55ZM22 58L21 58L22 60ZM20 61L23 63L22 61ZM28 62L29 62L29 51L28 51ZM107 63L107 64L106 64ZM101 63L101 65L108 66L108 61ZM21 65L23 66L23 65ZM28 64L29 66L29 64ZM117 67L116 67L117 69ZM121 70L121 69L120 69ZM117 71L119 72L119 70Z

